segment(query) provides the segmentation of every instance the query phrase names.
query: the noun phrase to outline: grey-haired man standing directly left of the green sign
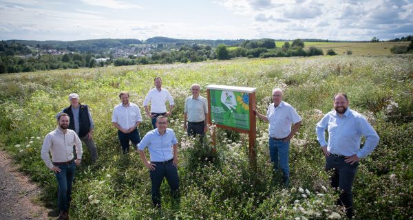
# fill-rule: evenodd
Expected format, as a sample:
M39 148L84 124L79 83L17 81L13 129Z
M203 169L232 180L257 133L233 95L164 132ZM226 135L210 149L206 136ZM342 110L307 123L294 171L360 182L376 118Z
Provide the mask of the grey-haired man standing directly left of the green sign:
M199 84L191 85L192 96L185 100L184 130L188 132L188 136L203 137L208 131L208 104L207 99L200 96L200 91Z

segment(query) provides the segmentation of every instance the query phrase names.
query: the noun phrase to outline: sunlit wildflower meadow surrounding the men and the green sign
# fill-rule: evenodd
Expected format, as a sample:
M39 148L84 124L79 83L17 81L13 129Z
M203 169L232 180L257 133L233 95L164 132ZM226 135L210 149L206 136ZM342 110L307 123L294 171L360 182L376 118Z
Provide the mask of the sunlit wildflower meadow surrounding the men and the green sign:
M88 104L95 122L98 162L90 155L78 168L70 214L72 219L328 219L344 217L335 206L338 192L329 186L315 124L332 109L332 96L346 91L350 108L372 123L381 140L361 160L354 180L356 219L409 219L413 216L413 56L383 54L385 43L326 43L337 54L307 58L238 58L231 61L171 65L138 65L67 69L0 75L0 148L21 171L43 189L40 200L56 208L56 180L41 160L43 138L56 127L54 115L68 106L76 92ZM307 46L307 45L306 45ZM277 47L281 47L277 43ZM359 48L359 49L357 49ZM171 207L169 186L162 184L162 211L152 208L147 168L136 152L124 156L112 110L120 91L142 102L161 76L175 98L169 127L179 146L180 207ZM257 109L266 112L271 91L284 89L284 101L297 109L303 125L290 145L290 188L273 177L268 156L268 124L257 120L257 172L248 164L248 137L218 129L217 152L188 138L182 128L189 86L199 83L256 87ZM206 91L202 91L206 97ZM142 114L140 135L151 129ZM208 135L208 140L210 137ZM208 158L213 157L213 162ZM206 159L207 158L207 159Z

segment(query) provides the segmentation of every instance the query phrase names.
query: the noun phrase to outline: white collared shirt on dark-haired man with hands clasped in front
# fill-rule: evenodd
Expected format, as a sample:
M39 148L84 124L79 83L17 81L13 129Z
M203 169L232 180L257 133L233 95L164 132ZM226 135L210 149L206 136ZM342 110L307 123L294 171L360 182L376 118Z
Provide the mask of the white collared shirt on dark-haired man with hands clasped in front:
M116 105L112 113L112 122L118 123L123 129L130 129L136 122L142 122L139 107L132 102L129 102L128 107L123 106L122 103Z

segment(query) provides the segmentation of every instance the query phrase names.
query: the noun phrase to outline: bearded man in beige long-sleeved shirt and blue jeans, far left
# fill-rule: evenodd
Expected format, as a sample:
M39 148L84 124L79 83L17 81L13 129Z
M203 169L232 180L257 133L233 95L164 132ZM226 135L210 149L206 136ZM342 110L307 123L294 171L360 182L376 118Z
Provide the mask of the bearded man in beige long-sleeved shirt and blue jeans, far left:
M41 147L41 159L56 176L59 186L59 219L68 219L76 165L81 164L82 142L76 132L67 129L70 122L69 115L61 113L57 120L59 126L45 137ZM77 159L74 159L73 146L76 146ZM52 153L52 160L49 153Z

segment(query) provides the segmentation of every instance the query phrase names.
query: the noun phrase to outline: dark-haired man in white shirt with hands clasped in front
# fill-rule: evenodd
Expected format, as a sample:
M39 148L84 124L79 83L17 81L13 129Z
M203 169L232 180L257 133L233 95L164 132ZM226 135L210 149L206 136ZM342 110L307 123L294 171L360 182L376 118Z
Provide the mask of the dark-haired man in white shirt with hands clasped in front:
M129 93L119 94L122 103L116 105L112 113L112 124L118 129L118 137L123 153L129 152L129 141L136 145L140 142L138 126L142 115L138 105L129 102Z

